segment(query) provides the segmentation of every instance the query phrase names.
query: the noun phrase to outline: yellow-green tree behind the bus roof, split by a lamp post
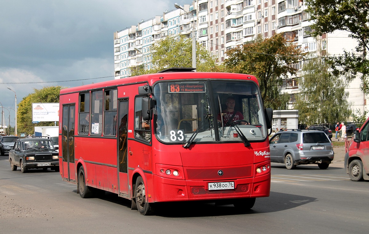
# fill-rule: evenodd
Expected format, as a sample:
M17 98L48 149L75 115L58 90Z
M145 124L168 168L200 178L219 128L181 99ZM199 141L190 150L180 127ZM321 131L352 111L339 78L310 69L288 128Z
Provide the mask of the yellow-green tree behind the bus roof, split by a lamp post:
M196 42L197 43L197 42ZM151 47L152 69L145 64L131 68L131 75L156 73L167 68L192 67L192 39L184 35L172 35L155 42ZM208 72L217 65L210 52L199 43L196 44L196 70Z

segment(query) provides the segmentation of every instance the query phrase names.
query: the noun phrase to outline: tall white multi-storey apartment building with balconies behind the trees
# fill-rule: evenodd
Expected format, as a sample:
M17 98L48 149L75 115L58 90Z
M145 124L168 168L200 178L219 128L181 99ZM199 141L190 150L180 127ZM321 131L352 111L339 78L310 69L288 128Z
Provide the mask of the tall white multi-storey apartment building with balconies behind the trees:
M174 6L173 6L174 7ZM215 55L218 63L224 61L227 49L255 39L282 32L284 37L312 54L339 55L351 50L356 42L346 32L310 37L309 16L303 0L197 0L142 20L137 25L114 33L115 79L130 76L130 68L144 65L151 68L150 46L167 35L193 35L200 45ZM295 95L299 93L298 78L303 61L294 64L296 76L284 79L280 92L290 94L286 104L293 109ZM355 79L346 89L351 109L366 110L366 96L360 91L360 80Z

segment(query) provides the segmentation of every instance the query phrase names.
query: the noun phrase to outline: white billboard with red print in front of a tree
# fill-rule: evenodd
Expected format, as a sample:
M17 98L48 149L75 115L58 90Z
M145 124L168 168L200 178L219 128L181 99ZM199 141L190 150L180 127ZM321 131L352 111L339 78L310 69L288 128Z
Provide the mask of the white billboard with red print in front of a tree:
M32 103L32 122L59 121L59 103Z

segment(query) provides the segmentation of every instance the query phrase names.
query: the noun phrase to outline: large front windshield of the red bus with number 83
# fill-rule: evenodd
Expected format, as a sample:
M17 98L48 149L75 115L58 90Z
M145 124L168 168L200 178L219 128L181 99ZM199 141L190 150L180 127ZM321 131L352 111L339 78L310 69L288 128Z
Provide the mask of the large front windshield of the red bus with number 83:
M259 88L240 80L154 86L156 137L165 143L252 142L268 135Z

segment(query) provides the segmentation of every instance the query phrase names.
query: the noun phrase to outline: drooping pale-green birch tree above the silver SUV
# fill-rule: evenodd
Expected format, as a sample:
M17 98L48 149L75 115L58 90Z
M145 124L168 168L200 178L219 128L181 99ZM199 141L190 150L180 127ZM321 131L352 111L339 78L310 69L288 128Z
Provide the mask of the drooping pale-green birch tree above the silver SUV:
M307 59L299 79L301 92L294 105L299 110L299 122L311 125L347 119L351 110L345 85L343 79L330 72L326 58Z

